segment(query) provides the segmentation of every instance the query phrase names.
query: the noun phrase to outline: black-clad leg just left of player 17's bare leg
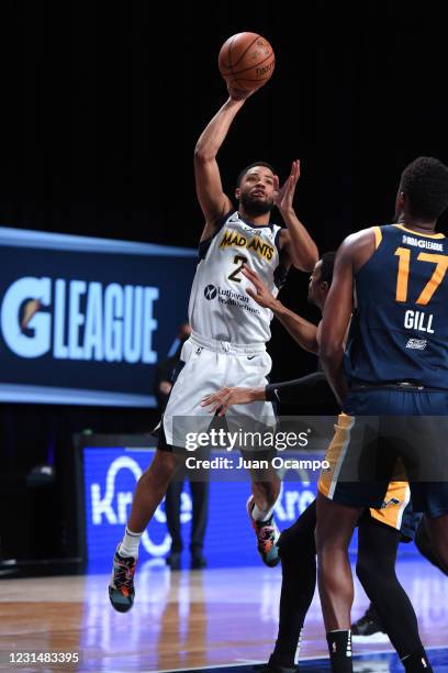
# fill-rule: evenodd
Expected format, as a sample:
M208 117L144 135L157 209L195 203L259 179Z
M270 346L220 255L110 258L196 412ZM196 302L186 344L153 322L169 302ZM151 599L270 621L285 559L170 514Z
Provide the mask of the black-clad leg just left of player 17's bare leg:
M316 586L316 501L314 500L293 526L282 531L279 540L282 583L280 619L276 647L268 671L293 670L306 613Z

